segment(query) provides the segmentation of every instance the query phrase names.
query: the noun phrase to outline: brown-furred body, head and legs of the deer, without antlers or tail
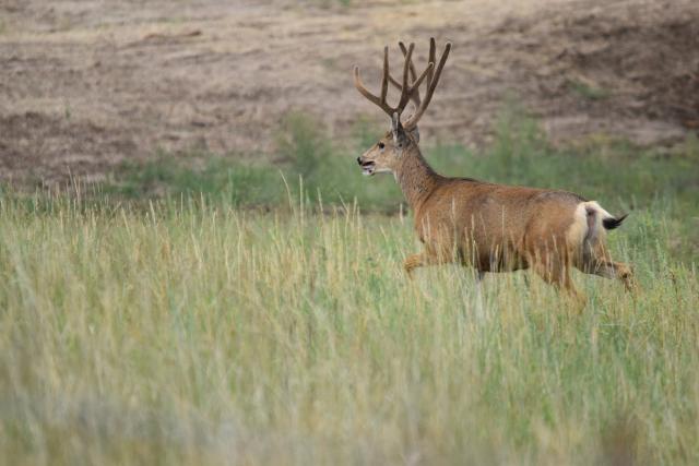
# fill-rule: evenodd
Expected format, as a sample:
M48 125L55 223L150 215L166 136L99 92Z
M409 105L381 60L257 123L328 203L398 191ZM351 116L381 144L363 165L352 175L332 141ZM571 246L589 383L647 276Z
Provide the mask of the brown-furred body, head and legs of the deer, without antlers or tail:
M379 143L384 145L379 150ZM572 267L603 277L617 277L628 289L628 265L612 261L604 241L604 211L591 207L576 218L583 198L536 188L447 178L423 158L417 142L406 138L396 152L391 133L360 157L362 164L391 170L415 213L415 230L425 244L405 260L408 273L424 265L459 262L478 272L533 268L546 283L567 290L580 304L584 297L570 277ZM591 225L601 231L590 237Z

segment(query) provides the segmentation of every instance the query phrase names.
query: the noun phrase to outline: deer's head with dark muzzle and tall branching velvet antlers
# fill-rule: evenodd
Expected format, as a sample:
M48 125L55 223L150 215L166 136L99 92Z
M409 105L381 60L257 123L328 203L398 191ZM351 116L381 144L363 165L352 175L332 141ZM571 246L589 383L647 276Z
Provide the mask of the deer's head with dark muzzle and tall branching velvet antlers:
M445 68L447 57L449 57L449 51L451 50L451 44L447 43L445 51L439 59L439 64L435 68L436 45L435 38L430 38L429 61L427 63L427 68L419 76L417 76L415 65L412 62L415 44L411 44L407 48L403 43L399 43L399 46L404 57L402 81L399 82L389 72L389 48L387 46L383 48L383 76L381 79L380 96L376 96L367 91L359 77L359 67L354 67L354 85L357 91L359 91L367 100L386 111L386 113L391 118L391 128L383 138L366 151L360 157L357 157L357 163L362 166L364 175L374 175L381 171L395 172L396 167L403 159L403 156L405 154L413 153L414 148L417 147L417 144L419 143L417 122L433 98L433 94L437 88L437 83L439 83L441 70ZM424 99L419 96L419 86L423 81L427 88ZM395 107L391 107L387 103L389 82L401 92L401 97ZM415 112L406 121L402 122L401 116L411 100L415 105Z

